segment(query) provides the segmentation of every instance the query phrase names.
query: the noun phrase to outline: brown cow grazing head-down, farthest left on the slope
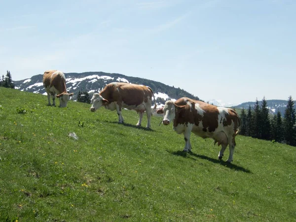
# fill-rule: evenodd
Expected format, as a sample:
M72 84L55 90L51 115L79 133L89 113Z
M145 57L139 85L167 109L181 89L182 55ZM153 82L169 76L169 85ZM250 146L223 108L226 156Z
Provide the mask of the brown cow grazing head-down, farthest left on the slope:
M47 93L48 106L50 104L50 95L52 97L52 105L55 106L55 96L60 100L60 107L67 107L70 96L66 88L66 78L61 71L47 70L43 74L43 85ZM56 95L57 94L57 95Z

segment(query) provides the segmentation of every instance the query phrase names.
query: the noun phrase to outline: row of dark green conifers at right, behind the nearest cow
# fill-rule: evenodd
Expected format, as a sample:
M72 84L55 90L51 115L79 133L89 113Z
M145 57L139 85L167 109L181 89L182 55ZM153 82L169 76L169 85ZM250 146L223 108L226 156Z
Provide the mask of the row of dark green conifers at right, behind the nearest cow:
M240 135L251 136L263 140L272 140L296 146L296 111L292 96L288 98L284 116L278 111L270 118L265 97L259 105L258 100L252 108L242 109Z

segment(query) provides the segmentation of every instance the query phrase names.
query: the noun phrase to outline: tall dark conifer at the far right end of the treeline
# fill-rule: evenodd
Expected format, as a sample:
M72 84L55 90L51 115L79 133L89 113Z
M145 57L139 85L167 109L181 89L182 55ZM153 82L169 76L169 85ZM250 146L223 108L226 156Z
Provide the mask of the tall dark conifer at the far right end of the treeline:
M296 145L296 114L294 109L294 101L292 99L292 96L288 98L287 107L284 114L284 138L286 140L286 143L291 146Z

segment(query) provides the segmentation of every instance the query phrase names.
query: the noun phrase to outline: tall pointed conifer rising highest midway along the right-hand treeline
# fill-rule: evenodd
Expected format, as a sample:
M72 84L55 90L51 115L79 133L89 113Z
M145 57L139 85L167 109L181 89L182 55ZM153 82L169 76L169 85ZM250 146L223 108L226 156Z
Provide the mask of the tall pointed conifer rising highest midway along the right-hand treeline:
M260 138L263 140L270 139L270 119L269 109L267 107L267 101L265 97L262 99L261 110L260 110Z

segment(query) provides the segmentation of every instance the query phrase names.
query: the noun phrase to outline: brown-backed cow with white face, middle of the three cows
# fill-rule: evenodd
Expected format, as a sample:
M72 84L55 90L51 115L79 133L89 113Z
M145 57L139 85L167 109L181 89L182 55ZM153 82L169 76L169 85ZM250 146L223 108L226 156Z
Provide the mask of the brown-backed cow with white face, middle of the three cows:
M105 86L100 93L95 93L91 99L90 111L96 111L104 106L106 109L117 111L118 122L123 123L121 109L135 110L139 113L137 126L141 126L143 113L147 113L147 128L150 128L151 104L154 98L152 89L148 86L124 82L112 82ZM155 103L155 98L154 98ZM156 103L153 110L156 108Z

